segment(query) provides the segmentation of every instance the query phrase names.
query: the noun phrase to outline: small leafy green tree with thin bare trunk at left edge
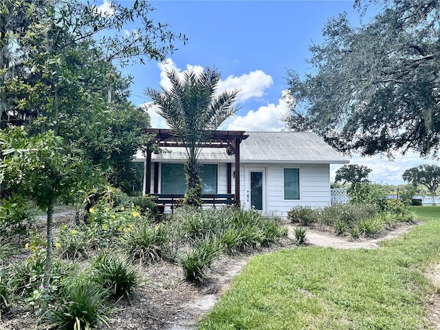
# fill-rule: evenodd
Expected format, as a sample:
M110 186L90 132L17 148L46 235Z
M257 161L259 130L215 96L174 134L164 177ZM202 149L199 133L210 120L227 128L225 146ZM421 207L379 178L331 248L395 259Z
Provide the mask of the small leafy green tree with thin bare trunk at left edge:
M47 213L47 255L43 286L48 294L52 272L52 216L57 199L73 202L83 184L91 184L88 164L65 152L53 131L28 136L21 127L0 131L0 184L28 197ZM86 179L87 178L87 179Z

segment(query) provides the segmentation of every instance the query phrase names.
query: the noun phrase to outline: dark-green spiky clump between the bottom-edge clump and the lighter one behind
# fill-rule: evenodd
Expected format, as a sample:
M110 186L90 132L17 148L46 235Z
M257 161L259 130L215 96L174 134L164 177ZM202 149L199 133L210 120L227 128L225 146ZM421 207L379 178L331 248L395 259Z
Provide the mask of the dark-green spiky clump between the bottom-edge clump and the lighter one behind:
M96 270L94 280L97 283L115 298L124 296L131 302L130 296L138 287L139 279L129 261L101 254L93 267Z

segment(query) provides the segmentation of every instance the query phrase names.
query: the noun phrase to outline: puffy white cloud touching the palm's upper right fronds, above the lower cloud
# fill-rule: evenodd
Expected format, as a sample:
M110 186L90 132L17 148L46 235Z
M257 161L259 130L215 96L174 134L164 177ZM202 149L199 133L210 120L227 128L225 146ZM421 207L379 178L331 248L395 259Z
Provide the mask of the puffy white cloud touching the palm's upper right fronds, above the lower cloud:
M251 98L261 98L264 96L265 89L274 85L272 76L265 74L261 70L252 71L241 76L228 76L219 82L219 91L232 91L239 89L237 101L245 102Z

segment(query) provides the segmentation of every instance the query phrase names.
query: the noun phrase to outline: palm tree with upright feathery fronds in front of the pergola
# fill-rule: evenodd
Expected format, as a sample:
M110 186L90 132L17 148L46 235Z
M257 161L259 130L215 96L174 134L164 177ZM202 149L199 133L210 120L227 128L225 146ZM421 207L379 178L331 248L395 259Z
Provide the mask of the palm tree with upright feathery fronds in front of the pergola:
M198 158L203 148L216 129L238 107L234 101L239 91L223 91L218 93L217 85L221 73L206 67L201 74L193 69L184 72L183 76L173 69L166 75L172 87L157 91L147 88L145 94L157 105L159 115L173 129L176 137L184 142L187 159L185 163L186 203L201 206L201 179Z

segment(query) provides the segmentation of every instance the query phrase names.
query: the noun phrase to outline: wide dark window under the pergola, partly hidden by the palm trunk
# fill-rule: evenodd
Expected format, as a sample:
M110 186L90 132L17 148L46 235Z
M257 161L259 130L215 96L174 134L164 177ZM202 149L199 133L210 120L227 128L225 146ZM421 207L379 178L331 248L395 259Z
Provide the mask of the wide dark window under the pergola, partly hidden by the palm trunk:
M200 165L201 186L204 194L217 194L217 164ZM162 194L186 192L184 164L162 164Z

